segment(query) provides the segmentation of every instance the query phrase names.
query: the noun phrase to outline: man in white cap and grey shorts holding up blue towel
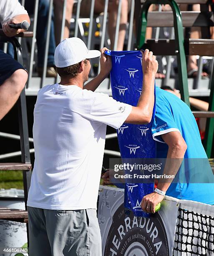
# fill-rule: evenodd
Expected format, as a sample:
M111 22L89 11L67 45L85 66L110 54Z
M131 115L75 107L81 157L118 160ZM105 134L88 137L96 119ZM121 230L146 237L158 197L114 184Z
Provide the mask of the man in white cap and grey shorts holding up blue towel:
M30 256L101 256L96 217L106 125L149 123L158 64L143 56L143 90L138 105L94 92L111 70L104 51L88 51L79 38L63 40L55 50L59 84L38 92L34 110L35 164L28 195ZM91 64L101 72L84 87Z

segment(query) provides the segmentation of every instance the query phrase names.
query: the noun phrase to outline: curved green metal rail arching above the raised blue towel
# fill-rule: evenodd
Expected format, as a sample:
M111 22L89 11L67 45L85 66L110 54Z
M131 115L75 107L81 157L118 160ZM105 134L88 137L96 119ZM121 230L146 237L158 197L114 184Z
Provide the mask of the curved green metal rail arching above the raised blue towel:
M145 43L147 13L149 10L149 6L151 4L156 4L156 5L169 4L172 8L173 16L174 16L174 30L175 30L175 44L176 44L175 55L177 56L181 100L183 100L188 106L190 106L181 12L179 10L177 3L174 0L146 0L142 8L141 27L139 28L139 33L138 33L137 48L142 49L142 46Z

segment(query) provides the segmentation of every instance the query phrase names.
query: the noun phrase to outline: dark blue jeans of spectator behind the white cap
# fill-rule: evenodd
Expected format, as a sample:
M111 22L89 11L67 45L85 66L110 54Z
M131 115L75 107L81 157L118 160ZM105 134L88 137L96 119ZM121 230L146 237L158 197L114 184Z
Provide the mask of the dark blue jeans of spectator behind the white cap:
M25 9L28 11L29 15L33 15L34 1L26 0ZM48 28L48 9L49 0L39 0L38 8L38 20L36 27L36 41L38 47L38 67L43 67L44 56L45 56L45 42L47 38L47 28ZM54 51L56 48L55 36L54 36L54 23L53 14L50 26L50 43L48 49L48 67L54 66Z

